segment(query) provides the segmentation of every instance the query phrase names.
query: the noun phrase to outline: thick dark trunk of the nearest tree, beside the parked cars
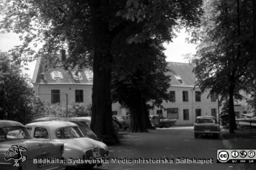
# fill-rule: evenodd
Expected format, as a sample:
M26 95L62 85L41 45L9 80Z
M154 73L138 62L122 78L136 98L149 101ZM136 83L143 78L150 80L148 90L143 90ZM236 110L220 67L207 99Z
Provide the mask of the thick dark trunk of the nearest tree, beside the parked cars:
M110 94L111 38L109 21L100 9L108 9L109 1L90 1L93 30L93 91L91 128L105 143L118 143L112 123L112 103Z

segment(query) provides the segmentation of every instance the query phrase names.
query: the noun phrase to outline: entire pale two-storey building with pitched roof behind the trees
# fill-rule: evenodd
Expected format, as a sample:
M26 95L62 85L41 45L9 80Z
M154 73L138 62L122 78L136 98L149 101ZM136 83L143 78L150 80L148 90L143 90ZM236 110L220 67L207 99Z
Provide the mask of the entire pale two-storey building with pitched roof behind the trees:
M164 109L154 107L150 114L161 114L166 118L177 119L177 125L188 125L195 122L196 116L218 117L217 97L204 93L195 86L194 66L189 63L168 63L168 72L172 76L170 88L171 102L163 102ZM71 102L92 103L93 73L88 70L74 72L62 68L44 70L44 63L38 58L33 75L35 93L49 104L69 104ZM152 105L152 104L151 104ZM115 103L113 114L125 115L127 109Z

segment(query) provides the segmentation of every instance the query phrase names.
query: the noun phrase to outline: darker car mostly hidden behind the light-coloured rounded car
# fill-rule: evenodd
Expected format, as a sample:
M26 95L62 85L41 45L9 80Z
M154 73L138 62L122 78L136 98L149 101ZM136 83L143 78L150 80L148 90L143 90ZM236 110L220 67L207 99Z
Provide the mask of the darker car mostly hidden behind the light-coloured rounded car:
M79 121L77 119L70 118L70 117L55 117L55 116L37 118L33 120L33 122L36 122L36 121L70 121L72 123L76 123L76 125L80 128L80 130L82 131L85 137L90 137L91 139L98 140L97 135L94 134L94 132L90 128L90 125L86 124L84 121Z

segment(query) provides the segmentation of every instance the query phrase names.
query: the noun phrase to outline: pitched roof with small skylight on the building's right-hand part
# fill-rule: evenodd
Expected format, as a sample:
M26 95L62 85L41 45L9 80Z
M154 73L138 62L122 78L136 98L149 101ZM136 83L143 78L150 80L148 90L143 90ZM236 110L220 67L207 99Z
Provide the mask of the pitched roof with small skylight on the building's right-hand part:
M166 74L172 77L171 86L195 86L194 68L195 66L191 63L168 62Z

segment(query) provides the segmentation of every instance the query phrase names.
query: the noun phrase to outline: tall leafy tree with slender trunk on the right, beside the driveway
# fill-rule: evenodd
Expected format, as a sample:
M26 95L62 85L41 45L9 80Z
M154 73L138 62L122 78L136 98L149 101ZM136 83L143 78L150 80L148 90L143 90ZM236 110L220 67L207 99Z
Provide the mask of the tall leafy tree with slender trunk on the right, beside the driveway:
M236 128L233 97L241 99L239 91L246 91L244 82L252 79L252 23L252 1L206 1L198 31L196 85L229 98L230 132Z

